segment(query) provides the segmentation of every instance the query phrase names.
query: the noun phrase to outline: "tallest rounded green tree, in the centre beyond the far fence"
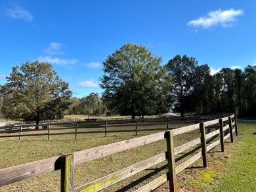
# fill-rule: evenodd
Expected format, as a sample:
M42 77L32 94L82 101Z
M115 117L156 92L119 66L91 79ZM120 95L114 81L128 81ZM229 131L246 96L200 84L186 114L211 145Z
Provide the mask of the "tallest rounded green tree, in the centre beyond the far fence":
M110 54L100 79L108 109L132 118L158 113L170 78L160 64L161 58L142 45L127 43Z

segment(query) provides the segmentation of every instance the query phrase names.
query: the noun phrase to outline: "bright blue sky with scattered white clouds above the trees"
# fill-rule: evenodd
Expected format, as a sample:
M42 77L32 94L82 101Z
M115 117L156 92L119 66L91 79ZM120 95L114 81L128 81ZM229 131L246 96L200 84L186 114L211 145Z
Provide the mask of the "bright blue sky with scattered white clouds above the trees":
M165 65L177 54L222 67L256 64L255 0L1 0L0 84L13 66L50 62L73 96L102 93L102 62L125 43Z

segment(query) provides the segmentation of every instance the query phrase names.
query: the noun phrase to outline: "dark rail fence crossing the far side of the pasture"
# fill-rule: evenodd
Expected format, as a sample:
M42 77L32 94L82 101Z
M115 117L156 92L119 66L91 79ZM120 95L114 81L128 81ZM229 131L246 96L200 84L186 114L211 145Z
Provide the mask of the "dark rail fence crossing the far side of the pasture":
M109 133L117 133L117 132L134 132L137 136L138 132L146 132L146 131L156 131L156 130L169 130L169 125L174 121L177 122L197 122L200 123L202 121L207 121L209 119L216 119L216 116L209 117L172 117L172 118L159 118L159 119L127 119L127 118L115 118L109 121L76 121L70 123L73 126L67 126L67 123L43 123L43 124L24 124L24 125L11 125L11 126L3 126L0 128L0 138L13 138L17 137L19 140L22 140L22 136L30 137L30 136L47 136L47 139L50 140L51 136L56 135L68 135L74 134L74 138L77 139L79 134L97 134L102 133L106 137ZM139 128L140 126L154 126L154 125L163 125L162 128ZM64 125L64 127L60 128L52 128L54 125ZM66 125L66 127L65 127ZM81 126L80 126L81 125ZM40 126L41 129L35 130L35 127ZM132 128L131 128L132 127ZM90 130L90 129L94 130ZM111 130L111 128L120 128L119 130ZM125 129L127 128L127 129ZM175 127L177 128L177 127ZM81 131L83 129L83 131ZM99 130L100 129L100 130ZM45 133L45 131L47 132ZM60 132L55 132L55 131ZM70 132L62 132L62 130L70 130ZM85 131L87 130L87 131ZM26 132L35 131L33 134L25 134ZM1 135L2 133L6 133ZM39 133L41 132L41 133ZM43 132L43 133L42 133ZM13 133L13 134L12 134ZM15 134L16 133L16 134ZM24 134L22 134L24 133Z

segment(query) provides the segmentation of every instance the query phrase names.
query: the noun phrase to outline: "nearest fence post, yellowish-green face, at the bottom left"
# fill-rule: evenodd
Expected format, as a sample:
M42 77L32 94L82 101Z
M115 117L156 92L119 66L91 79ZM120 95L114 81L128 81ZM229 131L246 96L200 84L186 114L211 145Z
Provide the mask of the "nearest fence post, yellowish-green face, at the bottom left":
M60 168L60 191L74 191L74 154L62 155Z

